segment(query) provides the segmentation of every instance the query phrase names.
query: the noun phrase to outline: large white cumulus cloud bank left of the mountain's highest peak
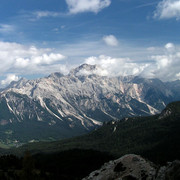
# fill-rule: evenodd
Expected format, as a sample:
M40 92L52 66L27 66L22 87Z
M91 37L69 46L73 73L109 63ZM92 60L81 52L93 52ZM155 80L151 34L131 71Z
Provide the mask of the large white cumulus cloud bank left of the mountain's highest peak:
M17 43L0 42L0 73L31 75L49 74L60 71L60 63L65 59L60 53L51 49L38 49L35 46L24 46ZM2 81L6 84L15 76L8 75L8 79Z

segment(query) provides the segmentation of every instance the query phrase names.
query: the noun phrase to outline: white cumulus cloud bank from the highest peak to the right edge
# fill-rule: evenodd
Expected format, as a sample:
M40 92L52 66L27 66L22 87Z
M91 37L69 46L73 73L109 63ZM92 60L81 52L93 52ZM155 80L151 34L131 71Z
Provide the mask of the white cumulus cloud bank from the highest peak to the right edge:
M104 55L89 57L85 63L99 65L101 68L93 72L98 75L139 75L147 78L159 78L163 81L180 79L180 48L173 43L167 43L163 49L163 54L151 55L147 63L134 62L130 58L112 58Z

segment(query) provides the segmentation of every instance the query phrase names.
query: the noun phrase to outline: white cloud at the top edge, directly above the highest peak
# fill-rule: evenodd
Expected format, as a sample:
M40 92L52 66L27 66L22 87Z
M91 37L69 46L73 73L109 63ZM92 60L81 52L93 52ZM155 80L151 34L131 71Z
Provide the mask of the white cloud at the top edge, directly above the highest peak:
M98 13L111 4L111 0L66 0L71 14L94 12Z

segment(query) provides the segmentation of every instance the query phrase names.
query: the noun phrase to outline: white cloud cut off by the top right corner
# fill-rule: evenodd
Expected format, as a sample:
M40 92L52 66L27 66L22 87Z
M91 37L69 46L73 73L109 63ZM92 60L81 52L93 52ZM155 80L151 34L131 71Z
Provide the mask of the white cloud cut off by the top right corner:
M180 0L162 0L158 3L154 17L158 19L180 18Z

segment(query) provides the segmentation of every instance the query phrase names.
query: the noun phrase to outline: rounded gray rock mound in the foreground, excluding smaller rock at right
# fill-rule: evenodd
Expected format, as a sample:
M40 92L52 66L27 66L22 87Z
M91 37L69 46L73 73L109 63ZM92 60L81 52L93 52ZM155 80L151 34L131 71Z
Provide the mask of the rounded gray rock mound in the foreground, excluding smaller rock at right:
M100 170L92 172L83 180L150 180L155 175L154 164L141 156L129 154L104 164Z

